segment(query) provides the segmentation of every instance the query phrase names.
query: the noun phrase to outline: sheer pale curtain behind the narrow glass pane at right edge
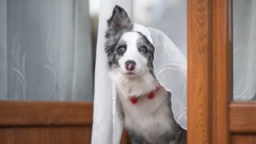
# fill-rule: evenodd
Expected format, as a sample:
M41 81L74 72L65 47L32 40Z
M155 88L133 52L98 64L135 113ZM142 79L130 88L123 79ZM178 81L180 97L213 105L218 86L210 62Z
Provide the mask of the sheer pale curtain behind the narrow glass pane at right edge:
M233 1L234 100L256 96L256 1Z

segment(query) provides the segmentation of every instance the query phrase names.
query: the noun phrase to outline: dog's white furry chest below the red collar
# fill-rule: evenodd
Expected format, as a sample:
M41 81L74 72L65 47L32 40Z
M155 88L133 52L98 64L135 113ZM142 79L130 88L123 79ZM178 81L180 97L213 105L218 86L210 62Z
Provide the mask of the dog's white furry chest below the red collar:
M168 94L163 88L155 93L154 98L144 96L138 98L135 104L122 95L120 99L127 129L134 130L149 141L172 131Z

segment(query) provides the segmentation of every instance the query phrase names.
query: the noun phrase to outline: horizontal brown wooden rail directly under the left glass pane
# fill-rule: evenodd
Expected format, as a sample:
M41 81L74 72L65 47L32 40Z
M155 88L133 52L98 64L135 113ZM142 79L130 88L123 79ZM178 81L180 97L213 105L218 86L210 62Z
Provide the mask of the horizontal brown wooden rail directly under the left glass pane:
M0 101L0 126L90 126L90 102Z

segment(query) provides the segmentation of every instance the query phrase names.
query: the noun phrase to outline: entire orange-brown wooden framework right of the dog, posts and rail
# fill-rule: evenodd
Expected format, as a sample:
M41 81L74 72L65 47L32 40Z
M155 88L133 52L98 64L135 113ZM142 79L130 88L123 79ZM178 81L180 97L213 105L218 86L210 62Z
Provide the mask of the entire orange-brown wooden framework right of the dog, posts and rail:
M188 143L256 143L256 103L232 102L231 0L188 0Z

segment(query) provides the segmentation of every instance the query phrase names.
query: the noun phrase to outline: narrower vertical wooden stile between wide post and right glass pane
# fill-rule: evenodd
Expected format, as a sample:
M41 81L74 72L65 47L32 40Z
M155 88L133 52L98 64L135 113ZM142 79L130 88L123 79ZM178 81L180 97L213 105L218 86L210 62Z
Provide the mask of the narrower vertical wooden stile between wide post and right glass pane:
M212 1L213 10L213 143L230 143L229 104L232 96L231 1Z

